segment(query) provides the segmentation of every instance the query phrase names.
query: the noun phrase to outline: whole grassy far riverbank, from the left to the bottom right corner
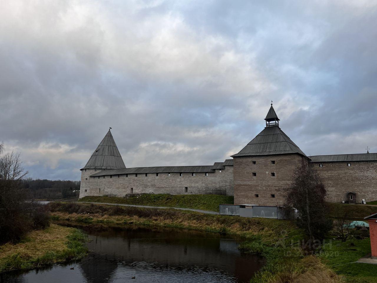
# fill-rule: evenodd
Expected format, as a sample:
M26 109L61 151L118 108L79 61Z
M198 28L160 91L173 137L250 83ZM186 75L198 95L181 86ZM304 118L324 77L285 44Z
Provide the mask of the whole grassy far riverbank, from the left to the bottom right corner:
M341 258L356 261L362 255L368 254L369 238L350 238L346 242L340 242L329 237L320 255L307 257L302 254L298 244L303 238L302 231L286 220L84 203L51 203L49 206L52 218L57 220L87 224L176 227L245 237L245 242L239 248L267 259L253 282L377 282L377 266L360 263L352 263L350 269L338 266L351 262L345 262ZM352 272L348 272L349 270Z

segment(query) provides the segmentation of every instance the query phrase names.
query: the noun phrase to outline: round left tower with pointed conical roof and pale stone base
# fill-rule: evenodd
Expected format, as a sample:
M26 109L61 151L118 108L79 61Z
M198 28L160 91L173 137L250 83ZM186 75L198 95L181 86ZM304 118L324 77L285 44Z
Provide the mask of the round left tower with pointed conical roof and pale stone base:
M107 132L97 146L86 165L81 168L80 198L84 197L89 189L89 176L97 171L126 168L123 159L110 132Z

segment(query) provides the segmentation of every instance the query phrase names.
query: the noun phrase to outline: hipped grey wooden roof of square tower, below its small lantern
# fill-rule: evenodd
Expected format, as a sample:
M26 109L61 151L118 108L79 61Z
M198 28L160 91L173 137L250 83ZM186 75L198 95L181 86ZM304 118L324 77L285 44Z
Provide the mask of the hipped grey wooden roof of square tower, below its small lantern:
M287 153L298 153L306 156L278 126L273 126L264 128L250 143L232 157Z

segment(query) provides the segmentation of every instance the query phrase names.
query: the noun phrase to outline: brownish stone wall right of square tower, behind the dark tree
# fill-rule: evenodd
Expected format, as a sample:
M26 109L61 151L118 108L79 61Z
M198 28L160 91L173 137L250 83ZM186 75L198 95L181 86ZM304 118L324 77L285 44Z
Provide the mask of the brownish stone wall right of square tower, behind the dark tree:
M348 163L351 166L348 166ZM347 200L349 192L356 193L356 203L377 200L377 162L342 161L310 163L318 172L328 196L329 202ZM322 164L322 167L319 165Z

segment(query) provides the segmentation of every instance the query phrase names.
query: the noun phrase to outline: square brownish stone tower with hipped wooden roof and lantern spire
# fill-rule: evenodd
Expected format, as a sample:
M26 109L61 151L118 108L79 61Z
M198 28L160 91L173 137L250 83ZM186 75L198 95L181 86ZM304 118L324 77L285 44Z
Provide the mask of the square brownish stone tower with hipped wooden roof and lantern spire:
M282 205L279 189L286 188L297 165L309 158L279 128L272 106L266 127L233 157L234 204Z

